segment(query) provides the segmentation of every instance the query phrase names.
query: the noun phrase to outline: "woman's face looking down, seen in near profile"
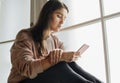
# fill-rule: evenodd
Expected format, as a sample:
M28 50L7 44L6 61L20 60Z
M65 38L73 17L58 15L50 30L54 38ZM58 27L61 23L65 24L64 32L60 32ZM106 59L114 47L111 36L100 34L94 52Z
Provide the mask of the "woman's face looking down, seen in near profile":
M50 30L55 32L59 31L65 21L65 18L67 17L67 14L68 12L65 8L54 11L50 21Z

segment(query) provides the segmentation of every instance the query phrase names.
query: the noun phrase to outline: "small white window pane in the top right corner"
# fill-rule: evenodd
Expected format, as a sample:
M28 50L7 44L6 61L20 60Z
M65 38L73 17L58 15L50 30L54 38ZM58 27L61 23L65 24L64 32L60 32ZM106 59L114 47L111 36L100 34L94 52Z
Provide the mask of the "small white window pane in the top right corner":
M105 15L120 12L120 0L103 0Z

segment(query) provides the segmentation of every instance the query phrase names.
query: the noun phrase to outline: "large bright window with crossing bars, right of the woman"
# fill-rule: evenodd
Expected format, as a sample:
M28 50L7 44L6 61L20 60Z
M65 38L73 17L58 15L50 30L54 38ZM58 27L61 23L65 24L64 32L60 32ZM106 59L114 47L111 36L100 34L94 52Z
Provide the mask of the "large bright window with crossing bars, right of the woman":
M120 49L119 48L120 44L118 43L120 42L118 38L119 35L118 27L120 27L119 25L120 1L119 0L110 0L110 1L109 0L105 0L105 1L104 0L92 0L92 1L63 0L63 1L68 5L68 8L70 9L70 13L66 20L64 28L60 33L57 34L61 38L61 40L63 40L64 43L66 43L66 49L76 50L79 47L79 45L85 43L86 41L88 41L87 43L90 42L93 43L94 41L92 41L91 36L96 37L95 39L93 38L93 40L95 41L98 40L99 43L90 44L90 46L93 46L93 48L96 49L89 48L89 50L87 50L86 53L83 54L84 57L82 57L77 62L80 65L82 65L87 71L90 71L95 76L103 80L104 83L119 82L118 80L119 78L116 75L119 73L120 70L117 65L119 63L119 58L120 58L118 56L119 55L118 49ZM101 16L101 14L103 15L103 17ZM105 25L102 26L102 23L104 23ZM104 32L103 28L104 29L106 28L107 31ZM91 35L94 33L97 33L99 35L96 34ZM106 33L107 35L105 35ZM88 36L86 36L86 34ZM108 42L106 40L108 40ZM103 43L106 42L106 44L108 44L108 49L104 48L107 47L107 45L103 44L102 41L104 41ZM96 46L99 46L98 47L99 51L97 51ZM107 49L108 51L106 51L105 49ZM95 53L94 51L97 53ZM105 54L105 52L108 55ZM100 58L101 64L99 64L101 68L100 72L99 69L97 69L98 65L95 65L95 63L99 63L99 62L98 61L95 61L94 63L89 62L91 60L94 61L93 58L91 59L91 57L88 56L89 54L90 56L94 55L94 59L96 60L98 60L97 54L99 54L99 57L101 57ZM108 59L106 59L105 56L108 56ZM87 59L84 61L85 58ZM88 63L86 63L86 61L88 61ZM106 62L108 64L106 64ZM88 65L89 63L91 63L92 65L91 64ZM95 68L94 71L97 71L97 73L93 72L92 68ZM101 73L101 75L99 73Z

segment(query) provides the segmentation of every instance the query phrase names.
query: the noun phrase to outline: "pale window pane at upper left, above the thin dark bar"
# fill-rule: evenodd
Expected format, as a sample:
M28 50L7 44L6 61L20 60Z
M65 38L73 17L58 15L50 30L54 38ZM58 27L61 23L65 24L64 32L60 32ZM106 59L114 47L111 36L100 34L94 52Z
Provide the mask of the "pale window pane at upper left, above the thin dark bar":
M0 42L14 39L16 33L30 25L30 0L1 0Z

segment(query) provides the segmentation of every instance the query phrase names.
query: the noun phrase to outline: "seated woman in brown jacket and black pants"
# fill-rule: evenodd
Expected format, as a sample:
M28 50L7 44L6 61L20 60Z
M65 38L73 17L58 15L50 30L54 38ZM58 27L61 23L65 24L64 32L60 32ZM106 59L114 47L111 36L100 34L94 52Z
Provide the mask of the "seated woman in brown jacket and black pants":
M50 0L37 23L17 34L8 83L101 83L74 62L80 53L64 52L63 43L52 34L60 30L68 12L63 2Z

